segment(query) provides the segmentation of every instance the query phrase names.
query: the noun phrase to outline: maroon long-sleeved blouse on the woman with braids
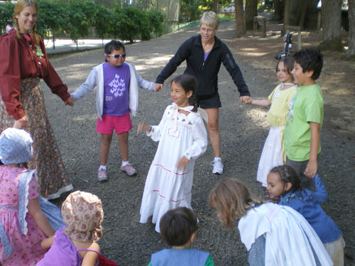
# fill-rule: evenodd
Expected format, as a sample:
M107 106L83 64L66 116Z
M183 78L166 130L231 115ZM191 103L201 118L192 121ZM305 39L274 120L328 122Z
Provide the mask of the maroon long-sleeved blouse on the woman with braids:
M48 61L45 45L40 39L40 50L44 56L35 55L36 45L33 35L21 34L21 40L12 30L0 36L0 92L6 106L6 111L15 120L22 118L22 104L20 102L21 79L40 77L50 87L53 94L57 94L63 101L67 101L70 94L67 85L55 72Z

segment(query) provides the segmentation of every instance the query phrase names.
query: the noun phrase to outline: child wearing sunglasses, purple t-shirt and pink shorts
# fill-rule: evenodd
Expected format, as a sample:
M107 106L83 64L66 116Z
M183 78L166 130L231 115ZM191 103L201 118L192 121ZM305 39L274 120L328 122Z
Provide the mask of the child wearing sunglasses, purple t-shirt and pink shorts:
M101 133L100 167L97 173L99 182L107 179L107 157L116 131L121 153L121 171L129 176L136 170L129 163L129 131L133 128L129 112L136 115L138 109L138 87L153 91L154 83L139 77L133 65L124 62L126 53L124 44L111 40L104 47L104 63L94 67L87 80L71 95L75 101L97 87L97 133Z

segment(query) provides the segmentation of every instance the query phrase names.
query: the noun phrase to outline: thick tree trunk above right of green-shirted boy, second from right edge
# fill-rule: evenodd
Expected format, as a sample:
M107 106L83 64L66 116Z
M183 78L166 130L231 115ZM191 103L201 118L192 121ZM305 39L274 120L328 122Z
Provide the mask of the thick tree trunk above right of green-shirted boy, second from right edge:
M321 50L342 51L342 0L322 0Z

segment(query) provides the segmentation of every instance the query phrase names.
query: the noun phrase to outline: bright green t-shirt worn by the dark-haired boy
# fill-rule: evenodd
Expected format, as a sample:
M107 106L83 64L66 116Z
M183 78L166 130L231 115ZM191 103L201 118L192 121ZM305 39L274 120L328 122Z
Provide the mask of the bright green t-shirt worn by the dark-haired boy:
M283 144L290 160L310 160L310 122L323 123L324 102L322 89L318 84L301 87L293 99L293 105L286 118ZM318 148L318 153L322 150Z

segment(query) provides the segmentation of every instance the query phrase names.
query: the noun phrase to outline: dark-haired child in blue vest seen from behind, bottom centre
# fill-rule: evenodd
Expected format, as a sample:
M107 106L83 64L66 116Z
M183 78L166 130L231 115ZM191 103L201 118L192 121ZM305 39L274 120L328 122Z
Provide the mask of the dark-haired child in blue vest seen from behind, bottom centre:
M172 248L151 256L148 266L213 266L209 253L191 248L197 231L197 217L186 207L167 211L160 219L161 238Z

